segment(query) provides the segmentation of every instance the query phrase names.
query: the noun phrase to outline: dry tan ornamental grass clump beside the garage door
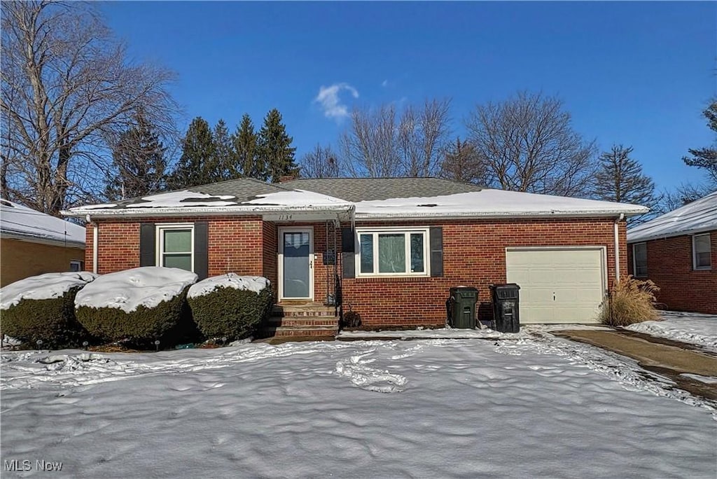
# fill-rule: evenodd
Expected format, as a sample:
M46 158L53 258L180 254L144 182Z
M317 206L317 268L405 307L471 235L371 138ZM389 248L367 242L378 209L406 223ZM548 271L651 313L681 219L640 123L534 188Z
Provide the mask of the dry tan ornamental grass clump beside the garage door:
M616 283L602 306L600 321L609 326L629 326L659 318L655 309L655 293L660 288L650 280L632 276Z

